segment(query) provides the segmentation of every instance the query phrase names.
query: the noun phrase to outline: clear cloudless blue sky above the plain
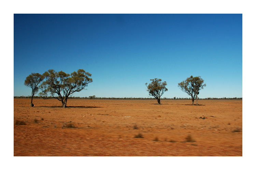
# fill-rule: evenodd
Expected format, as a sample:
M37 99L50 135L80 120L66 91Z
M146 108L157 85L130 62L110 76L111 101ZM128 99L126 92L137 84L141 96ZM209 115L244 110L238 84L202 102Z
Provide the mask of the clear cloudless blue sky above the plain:
M189 97L177 85L191 75L201 98L242 97L242 14L14 14L14 96L48 69L91 73L80 97L148 97L153 78Z

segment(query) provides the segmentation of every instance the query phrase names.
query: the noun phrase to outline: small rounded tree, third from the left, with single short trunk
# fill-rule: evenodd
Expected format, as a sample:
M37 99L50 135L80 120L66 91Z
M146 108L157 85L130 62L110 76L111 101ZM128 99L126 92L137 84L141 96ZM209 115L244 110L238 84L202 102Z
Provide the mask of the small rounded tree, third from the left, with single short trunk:
M147 83L145 83L145 85L147 86L147 91L151 96L157 99L158 104L161 104L161 96L163 95L164 92L168 91L168 89L166 88L167 83L166 81L161 82L162 80L157 78L150 79L150 81L152 82L148 85Z

